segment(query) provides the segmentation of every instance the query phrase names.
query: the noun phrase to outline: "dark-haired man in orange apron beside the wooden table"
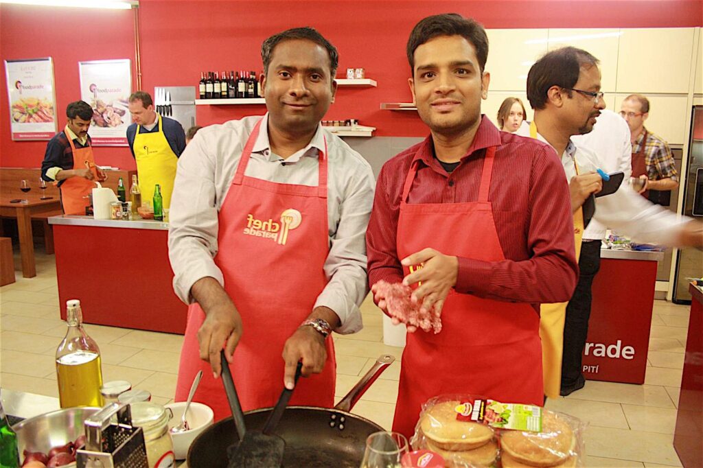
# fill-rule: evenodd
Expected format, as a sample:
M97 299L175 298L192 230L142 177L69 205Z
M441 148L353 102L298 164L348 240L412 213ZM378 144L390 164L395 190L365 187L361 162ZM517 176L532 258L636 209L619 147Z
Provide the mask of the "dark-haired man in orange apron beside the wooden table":
M82 100L66 108L67 123L46 145L41 177L55 181L61 192L61 205L65 214L86 214L89 195L96 187L95 181L106 176L95 164L93 146L88 129L93 109Z

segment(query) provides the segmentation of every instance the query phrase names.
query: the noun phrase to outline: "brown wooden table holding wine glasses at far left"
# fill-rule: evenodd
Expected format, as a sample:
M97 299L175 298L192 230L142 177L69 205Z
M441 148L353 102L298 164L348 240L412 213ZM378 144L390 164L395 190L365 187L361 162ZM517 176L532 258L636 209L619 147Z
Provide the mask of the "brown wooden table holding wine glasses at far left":
M37 276L37 268L34 265L32 215L61 209L61 201L58 197L51 200L30 198L27 203L11 203L10 200L10 197L0 197L0 216L17 219L17 228L20 236L20 255L22 256L22 276L34 278L34 276Z

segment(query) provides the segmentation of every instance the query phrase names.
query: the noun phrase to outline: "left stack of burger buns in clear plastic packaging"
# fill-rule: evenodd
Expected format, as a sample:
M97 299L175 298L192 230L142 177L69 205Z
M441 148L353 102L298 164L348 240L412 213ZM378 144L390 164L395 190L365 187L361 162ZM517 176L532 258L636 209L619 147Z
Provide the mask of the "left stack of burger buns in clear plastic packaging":
M471 420L475 401L482 399L454 394L428 400L411 438L413 449L438 453L446 467L495 466L498 444L494 429Z

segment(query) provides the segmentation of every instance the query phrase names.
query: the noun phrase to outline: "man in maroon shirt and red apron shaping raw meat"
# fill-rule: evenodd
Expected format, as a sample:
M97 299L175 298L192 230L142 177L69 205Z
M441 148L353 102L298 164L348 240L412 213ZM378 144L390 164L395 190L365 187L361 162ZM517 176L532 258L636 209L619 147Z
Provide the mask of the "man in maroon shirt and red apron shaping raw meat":
M407 337L393 422L407 436L439 394L542 405L539 304L576 285L563 170L548 145L481 115L487 51L483 27L460 15L415 26L409 82L431 135L384 165L369 221L370 284L404 281L441 309L441 332Z

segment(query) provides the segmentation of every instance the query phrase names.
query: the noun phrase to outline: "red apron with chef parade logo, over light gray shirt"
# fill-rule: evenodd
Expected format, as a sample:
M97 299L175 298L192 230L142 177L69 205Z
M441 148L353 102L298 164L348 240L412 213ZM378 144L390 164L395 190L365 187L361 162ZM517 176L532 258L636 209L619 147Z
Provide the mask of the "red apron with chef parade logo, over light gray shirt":
M327 148L319 155L317 187L273 183L245 176L259 134L254 126L232 185L219 211L215 264L243 322L243 337L230 365L243 410L276 404L283 390L283 344L311 313L327 285L323 266L329 252ZM188 398L193 377L203 371L194 401L209 405L215 420L231 412L220 379L200 360L198 330L205 313L188 308L175 401ZM223 343L224 345L224 343ZM291 405L333 406L335 350L326 340L321 374L300 379Z

